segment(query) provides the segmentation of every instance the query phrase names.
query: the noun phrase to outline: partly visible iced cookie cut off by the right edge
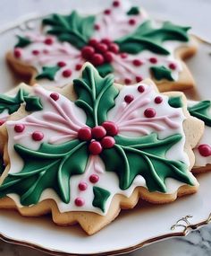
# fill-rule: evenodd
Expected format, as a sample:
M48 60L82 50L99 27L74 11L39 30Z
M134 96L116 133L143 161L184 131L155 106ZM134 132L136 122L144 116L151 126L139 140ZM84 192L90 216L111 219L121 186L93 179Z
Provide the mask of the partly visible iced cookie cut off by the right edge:
M196 163L193 172L206 172L211 169L211 102L189 101L190 114L205 122L205 131L196 148L194 154Z

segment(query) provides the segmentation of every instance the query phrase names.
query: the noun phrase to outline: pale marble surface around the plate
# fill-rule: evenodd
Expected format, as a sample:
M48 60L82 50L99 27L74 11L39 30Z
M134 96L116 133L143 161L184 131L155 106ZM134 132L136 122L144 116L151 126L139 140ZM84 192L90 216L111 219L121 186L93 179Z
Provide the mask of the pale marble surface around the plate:
M13 22L22 15L31 13L50 13L68 10L69 6L78 6L86 1L86 10L91 11L93 2L106 5L107 1L100 0L1 0L0 9L4 10L0 15L0 28L8 22ZM211 40L211 1L210 0L137 0L151 15L161 19L171 19L174 22L190 24L195 33ZM49 4L50 3L50 4ZM95 4L96 6L96 4ZM200 10L200 11L198 11ZM189 11L189 12L188 12ZM44 256L45 253L24 248L18 245L0 241L0 256ZM190 233L187 237L168 239L142 248L137 252L131 252L130 256L208 256L211 255L211 225Z

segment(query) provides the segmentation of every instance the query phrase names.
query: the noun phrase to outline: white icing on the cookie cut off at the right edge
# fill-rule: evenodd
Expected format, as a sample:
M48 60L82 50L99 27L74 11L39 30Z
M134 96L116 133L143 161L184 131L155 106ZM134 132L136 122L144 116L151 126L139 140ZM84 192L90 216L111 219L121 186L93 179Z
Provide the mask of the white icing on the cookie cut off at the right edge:
M192 107L194 105L196 105L198 102L197 101L188 101L188 106ZM211 117L211 108L208 109L208 115ZM203 167L206 166L207 164L211 163L211 155L210 156L203 156L201 154L199 154L198 151L198 146L202 145L202 144L206 144L211 146L211 128L208 127L207 125L205 125L205 130L204 133L202 135L202 137L200 138L198 145L193 149L193 152L195 154L195 164L194 167Z

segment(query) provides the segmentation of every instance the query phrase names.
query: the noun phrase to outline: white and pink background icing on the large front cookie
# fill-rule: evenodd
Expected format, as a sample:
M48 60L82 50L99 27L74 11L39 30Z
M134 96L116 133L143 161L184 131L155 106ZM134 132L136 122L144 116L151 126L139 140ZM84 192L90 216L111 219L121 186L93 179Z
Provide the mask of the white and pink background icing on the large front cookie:
M142 85L144 85L144 84L142 84ZM123 98L126 94L132 94L134 96L134 104L131 105L131 107L135 106L134 108L136 110L134 110L134 112L136 114L133 115L133 117L131 116L131 119L136 119L137 117L143 118L143 111L148 107L156 109L156 117L164 117L164 115L165 116L173 115L172 121L173 122L175 121L175 123L177 124L177 126L174 125L174 128L169 128L168 126L165 125L165 122L162 122L160 120L157 121L156 123L163 127L162 130L157 131L156 129L148 127L148 126L145 128L148 130L148 134L155 131L159 138L165 138L165 137L174 135L176 133L180 133L182 136L181 141L178 142L176 145L174 145L167 152L166 158L171 159L171 160L176 160L176 161L181 160L184 163L187 163L187 165L190 165L189 158L184 153L184 150L183 150L184 143L185 143L185 135L184 135L183 128L182 128L182 123L183 123L183 120L185 119L185 117L182 113L182 110L178 109L178 108L174 109L174 108L170 107L167 103L168 97L164 96L164 95L162 95L163 102L161 104L155 104L154 99L159 94L155 93L155 91L152 90L152 88L150 86L148 87L148 89L146 86L145 89L146 89L147 93L145 96L141 96L137 90L138 86L139 86L139 84L133 85L133 86L131 85L128 87L125 86L122 88L121 92L115 99L114 108L108 112L108 120L115 120L116 115L119 115L119 117L121 118L121 113L119 114L119 107L122 105ZM80 110L74 103L72 103L68 99L66 99L64 96L59 95L59 99L56 102L54 102L54 100L52 100L49 97L51 92L48 92L45 89L41 89L41 87L38 87L38 86L34 86L33 90L34 90L33 93L38 94L38 96L41 98L41 102L44 107L43 110L40 110L38 112L33 112L28 117L25 117L20 120L6 122L8 135L9 135L8 153L9 153L9 158L10 158L10 162L11 162L9 173L20 172L21 168L23 167L23 162L22 162L20 156L18 154L16 154L16 152L13 149L14 144L20 144L21 146L26 146L27 148L34 149L34 150L38 149L38 147L40 146L40 144L42 142L44 142L44 141L49 142L52 137L61 136L61 134L63 135L63 132L61 132L60 130L58 132L55 129L52 129L52 127L57 127L59 125L59 127L61 129L65 130L65 128L67 128L68 125L70 125L70 122L68 121L67 117L69 117L69 118L72 117L72 113L74 113L74 117L76 119L75 123L77 123L79 125L79 127L80 127L80 124L84 124L83 126L86 126L85 125L86 116L85 116L84 112L82 110ZM136 108L135 99L140 100L140 102L148 99L147 100L148 103L140 108L139 107ZM57 110L55 108L55 104L58 105L59 110L61 110L61 108L64 110L64 113L61 114L61 112L60 112L60 114L61 114L61 116L63 115L63 118L65 119L65 121L63 119L58 119L58 118L52 119L51 121L47 120L48 124L49 124L48 128L45 126L45 124L42 128L40 128L38 126L33 127L33 126L29 125L29 120L31 122L32 122L32 120L34 120L35 124L38 123L37 120L45 120L47 112L53 112L54 114L56 114ZM65 108L65 105L69 106L68 109L72 113L67 111L67 108ZM130 108L128 108L128 109L130 109ZM125 111L126 111L126 109L125 109ZM175 115L175 112L177 113L177 115ZM122 111L122 113L123 113L123 111ZM125 118L122 118L122 120L127 121L127 116ZM70 121L71 121L71 118L70 118ZM21 136L20 136L20 134L18 134L14 131L13 128L14 128L15 124L24 124L25 125L25 129L21 133ZM50 128L50 126L52 126L52 127ZM72 134L73 129L74 128L70 128L70 134ZM31 139L31 133L35 130L39 130L44 133L44 139L41 142L35 142ZM128 136L128 137L143 136L139 132L121 133L121 131L120 131L120 135L121 134L124 136ZM60 139L61 139L61 141L67 141L70 138L65 139L65 137L62 137L62 138L60 137ZM105 215L109 209L112 199L114 198L114 195L122 194L126 197L130 197L135 188L137 188L139 186L147 187L145 179L142 176L138 175L135 178L135 180L131 183L131 187L129 189L121 190L119 188L119 179L118 179L117 175L114 172L105 172L104 170L105 170L105 165L102 162L102 160L99 158L99 156L91 156L91 157L89 157L89 163L87 164L85 172L81 175L72 176L72 178L70 180L70 185L71 185L70 203L68 203L68 204L63 203L63 201L58 197L58 195L55 193L55 191L51 190L51 189L44 190L41 194L41 198L39 199L39 201L42 201L44 199L54 199L61 212L82 210L82 211L96 212L100 215ZM95 185L97 187L100 187L105 190L109 190L111 192L111 195L110 195L109 199L107 199L106 204L105 204L105 213L103 213L99 208L92 206L94 194L93 194L93 184L89 181L89 176L93 173L96 173L99 176L99 181ZM195 184L198 184L198 182L193 177L191 172L189 175L190 175L190 179ZM81 181L87 182L87 184L88 184L87 190L80 191L78 189L78 184ZM183 185L184 183L167 178L165 180L165 184L167 187L167 194L168 193L172 194L173 192L176 192L181 187L181 185ZM15 201L15 203L19 207L21 207L20 198L18 195L8 194L8 197L12 198ZM85 200L84 206L76 207L74 205L74 199L76 199L78 197L81 197L82 199Z

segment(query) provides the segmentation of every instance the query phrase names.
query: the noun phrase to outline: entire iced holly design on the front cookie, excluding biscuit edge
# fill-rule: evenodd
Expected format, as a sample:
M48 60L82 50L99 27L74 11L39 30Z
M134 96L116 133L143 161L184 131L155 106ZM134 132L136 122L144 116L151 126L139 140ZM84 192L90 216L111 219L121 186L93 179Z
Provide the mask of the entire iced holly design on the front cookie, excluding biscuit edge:
M115 193L129 196L137 186L165 193L169 191L167 178L195 184L188 162L181 157L184 146L182 111L166 108L169 106L167 96L156 106L156 116L140 119L140 123L157 122L162 131L146 125L148 132L143 135L141 130L135 133L131 130L132 122L127 132L121 128L130 120L135 120L136 126L137 118L143 117L145 110L153 109L157 94L151 86L124 86L119 91L114 87L114 78L102 78L93 66L87 65L82 77L74 81L74 88L79 98L72 102L59 93L36 86L33 90L45 102L44 110L21 120L7 121L9 155L12 150L23 165L17 167L20 164L14 164L10 158L10 168L15 172L9 170L1 184L1 198L15 193L20 196L22 206L31 206L51 198L52 193L47 196L46 190L53 190L56 201L72 210L80 207L104 215ZM124 102L122 111L121 103L128 95L132 95L132 100ZM79 111L81 114L77 114ZM132 116L132 112L136 114ZM178 119L180 125L174 119ZM20 132L14 130L17 125L23 128ZM81 128L90 129L89 139L79 137ZM179 145L179 158L167 158L173 146ZM105 182L105 177L113 178ZM85 183L79 190L80 184ZM113 187L108 189L110 183Z

